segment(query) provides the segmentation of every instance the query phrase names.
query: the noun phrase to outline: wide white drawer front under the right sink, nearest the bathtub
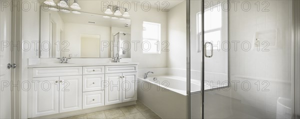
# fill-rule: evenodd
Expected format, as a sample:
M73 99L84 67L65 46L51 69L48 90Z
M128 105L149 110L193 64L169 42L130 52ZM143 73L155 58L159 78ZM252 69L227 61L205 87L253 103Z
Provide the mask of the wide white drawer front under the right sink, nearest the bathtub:
M105 73L125 73L125 72L136 72L136 65L122 65L122 66L105 66Z

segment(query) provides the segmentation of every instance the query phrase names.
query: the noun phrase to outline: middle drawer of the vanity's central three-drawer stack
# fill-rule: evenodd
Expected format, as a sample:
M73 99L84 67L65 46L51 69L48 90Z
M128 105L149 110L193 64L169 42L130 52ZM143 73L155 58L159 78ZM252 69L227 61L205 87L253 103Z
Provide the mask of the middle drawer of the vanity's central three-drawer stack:
M83 75L82 76L82 92L99 91L101 83L104 81L104 74L100 75Z

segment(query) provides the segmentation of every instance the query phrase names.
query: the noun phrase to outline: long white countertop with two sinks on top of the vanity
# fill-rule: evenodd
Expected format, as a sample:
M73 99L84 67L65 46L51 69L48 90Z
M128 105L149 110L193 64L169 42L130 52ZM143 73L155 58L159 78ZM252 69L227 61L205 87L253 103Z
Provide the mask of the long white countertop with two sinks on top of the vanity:
M87 64L87 63L49 63L49 64L33 64L28 65L28 68L39 68L39 67L82 67L82 66L116 66L116 65L138 65L136 62L109 62L109 63L97 63L97 64Z

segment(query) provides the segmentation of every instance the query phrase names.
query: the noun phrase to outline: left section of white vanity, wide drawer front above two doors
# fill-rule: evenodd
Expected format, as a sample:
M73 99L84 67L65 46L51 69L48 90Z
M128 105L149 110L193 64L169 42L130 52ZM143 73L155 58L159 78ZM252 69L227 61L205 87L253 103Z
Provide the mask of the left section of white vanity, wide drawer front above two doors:
M82 109L81 67L33 68L32 72L32 82L36 83L32 90L32 117Z

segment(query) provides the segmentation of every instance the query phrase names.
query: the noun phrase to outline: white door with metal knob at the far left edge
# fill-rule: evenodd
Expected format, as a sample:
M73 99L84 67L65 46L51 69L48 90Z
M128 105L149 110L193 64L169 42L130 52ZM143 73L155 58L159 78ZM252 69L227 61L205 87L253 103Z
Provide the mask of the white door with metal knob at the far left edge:
M10 0L11 1L11 0ZM9 0L7 2L11 3ZM7 64L11 63L11 11L10 7L0 10L0 119L11 118L11 92L10 92L10 69Z

